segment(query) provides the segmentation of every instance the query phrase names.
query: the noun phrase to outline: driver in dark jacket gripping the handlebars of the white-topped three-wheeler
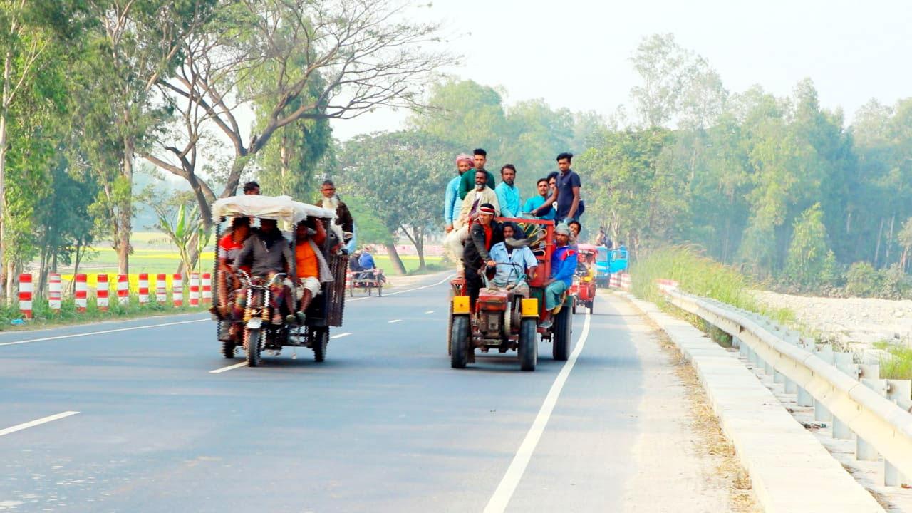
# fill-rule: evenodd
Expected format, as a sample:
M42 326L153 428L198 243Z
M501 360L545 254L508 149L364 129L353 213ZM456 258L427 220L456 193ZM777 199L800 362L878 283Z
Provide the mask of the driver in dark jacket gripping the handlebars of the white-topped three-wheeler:
M249 265L252 277L270 281L276 274L288 272L291 258L291 247L288 245L288 240L279 231L275 219L260 219L260 228L254 230L253 235L244 242L241 253L234 259L232 270L237 272L241 266ZM270 294L273 324L282 324L283 305L289 311L295 309L293 298L287 292L284 280L273 282ZM244 292L242 291L241 294ZM237 302L234 307L235 316L238 319L243 317L243 307ZM238 309L241 311L238 312Z

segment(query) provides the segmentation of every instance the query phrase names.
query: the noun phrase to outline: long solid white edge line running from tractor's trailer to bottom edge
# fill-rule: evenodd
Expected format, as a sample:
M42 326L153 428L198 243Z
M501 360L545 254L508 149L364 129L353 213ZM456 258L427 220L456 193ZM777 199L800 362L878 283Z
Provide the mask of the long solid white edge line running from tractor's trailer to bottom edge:
M544 398L542 408L535 415L532 427L529 428L529 432L523 438L523 443L520 444L516 454L513 455L513 461L510 462L506 474L503 475L503 479L497 485L497 489L494 490L494 495L491 496L491 500L488 501L488 505L484 508L484 513L502 513L507 508L507 505L510 504L513 492L516 491L516 486L519 485L520 479L523 478L525 467L529 465L535 446L541 440L544 428L548 425L551 413L554 412L554 405L564 389L567 376L570 375L570 371L573 371L576 359L579 358L579 353L583 351L583 346L586 345L586 338L589 336L589 319L591 319L591 316L587 313L586 322L583 324L583 332L580 334L579 340L576 341L573 353L564 364L564 367L561 368L561 372L557 374L557 378L554 379L551 390L548 391L548 395Z

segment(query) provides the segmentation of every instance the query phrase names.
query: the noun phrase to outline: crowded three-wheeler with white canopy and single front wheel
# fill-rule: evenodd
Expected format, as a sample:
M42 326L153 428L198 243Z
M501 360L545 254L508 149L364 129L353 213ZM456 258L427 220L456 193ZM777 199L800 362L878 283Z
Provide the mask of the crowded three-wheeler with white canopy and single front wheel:
M260 277L250 277L244 271L238 272L244 294L244 313L240 318L231 315L219 319L216 335L222 343L222 355L233 358L238 347L246 351L247 364L251 367L259 365L263 351L275 351L278 354L285 346L307 347L314 351L314 360L326 359L326 346L329 343L329 328L342 325L342 314L345 309L345 280L347 270L347 255L337 255L330 248L337 246L338 241L333 231L328 229L336 214L330 210L311 204L293 201L288 196L261 196L240 195L222 198L212 204L212 219L216 224L216 241L221 239L225 221L232 217L244 216L249 218L273 219L279 227L291 232L290 244L295 247L295 225L307 217L316 218L316 222L323 223L326 227L326 242L320 248L326 258L326 264L332 274L333 281L322 285L321 293L311 301L305 315L303 324L289 324L282 316L282 324L274 324L273 312L270 306L270 286L275 280L285 280L285 274L275 275L270 282L264 282ZM294 251L292 251L294 255ZM295 258L291 259L289 273L295 276ZM212 273L216 284L225 283L226 287L218 287L230 296L233 301L234 292L231 284L233 279L225 276L219 267L218 251L215 256L215 270ZM295 280L288 280L291 284L291 293L296 298ZM224 301L218 298L216 301Z

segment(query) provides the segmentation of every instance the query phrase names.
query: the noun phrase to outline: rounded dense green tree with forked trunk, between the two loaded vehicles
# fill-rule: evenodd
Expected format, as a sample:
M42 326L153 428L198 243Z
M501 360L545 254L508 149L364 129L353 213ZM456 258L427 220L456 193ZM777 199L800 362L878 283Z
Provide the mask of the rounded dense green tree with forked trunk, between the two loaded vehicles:
M442 191L451 178L454 152L446 141L398 131L358 136L345 143L339 156L339 182L349 195L370 205L393 239L397 233L409 238L420 269L425 267L425 237L440 226ZM393 262L399 262L396 246L386 246ZM405 273L401 262L397 267Z

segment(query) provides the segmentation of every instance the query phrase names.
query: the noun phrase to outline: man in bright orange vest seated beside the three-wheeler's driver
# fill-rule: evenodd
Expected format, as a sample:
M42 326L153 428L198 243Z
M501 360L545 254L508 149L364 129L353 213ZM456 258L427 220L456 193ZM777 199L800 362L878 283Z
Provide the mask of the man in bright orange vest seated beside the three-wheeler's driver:
M285 320L304 324L304 312L313 298L320 294L323 283L333 280L332 272L320 246L326 243L326 228L323 222L308 217L295 226L295 274L297 275L298 310L289 313Z

